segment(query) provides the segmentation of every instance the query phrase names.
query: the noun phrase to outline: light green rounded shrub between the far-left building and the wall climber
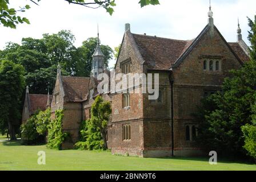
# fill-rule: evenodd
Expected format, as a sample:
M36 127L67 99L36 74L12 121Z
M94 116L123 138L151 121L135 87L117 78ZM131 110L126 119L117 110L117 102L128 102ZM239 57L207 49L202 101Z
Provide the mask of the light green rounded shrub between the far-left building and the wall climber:
M46 136L49 124L51 122L51 108L40 111L35 120L35 127L39 135Z

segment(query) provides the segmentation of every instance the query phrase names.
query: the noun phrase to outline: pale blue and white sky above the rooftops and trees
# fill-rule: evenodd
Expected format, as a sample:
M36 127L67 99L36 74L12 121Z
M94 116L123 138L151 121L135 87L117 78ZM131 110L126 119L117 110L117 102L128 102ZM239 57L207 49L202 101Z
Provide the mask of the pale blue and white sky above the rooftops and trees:
M90 1L90 0L88 0ZM83 40L97 36L99 24L102 44L114 48L122 42L125 23L131 24L136 34L157 35L164 38L189 40L195 38L207 24L209 0L159 0L161 5L141 7L139 0L116 0L117 6L112 16L104 9L87 9L69 5L63 0L42 0L39 6L28 0L10 0L17 7L27 3L31 9L22 16L31 24L21 24L16 30L0 27L0 49L6 42L21 43L24 37L41 38L42 34L71 30L75 35L75 46ZM243 39L247 41L247 16L256 14L255 0L211 0L214 24L228 42L235 42L237 18L239 17ZM110 67L115 60L110 61Z

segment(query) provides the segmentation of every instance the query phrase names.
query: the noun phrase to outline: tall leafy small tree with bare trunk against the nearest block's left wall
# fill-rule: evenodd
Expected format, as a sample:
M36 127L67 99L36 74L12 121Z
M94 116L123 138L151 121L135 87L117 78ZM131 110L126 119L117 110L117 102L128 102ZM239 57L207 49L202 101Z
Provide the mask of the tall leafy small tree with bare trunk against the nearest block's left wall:
M104 145L103 150L107 149L107 123L111 114L111 106L109 101L104 101L98 96L91 106L91 124L94 128L99 128Z

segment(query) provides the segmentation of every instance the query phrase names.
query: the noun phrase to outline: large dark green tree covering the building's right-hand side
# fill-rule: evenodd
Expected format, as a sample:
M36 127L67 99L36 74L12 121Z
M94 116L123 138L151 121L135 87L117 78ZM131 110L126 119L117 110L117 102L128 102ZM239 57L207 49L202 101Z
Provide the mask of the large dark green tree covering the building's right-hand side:
M202 107L197 113L197 119L200 121L199 144L207 150L215 150L219 154L228 156L245 156L244 148L251 147L253 138L250 137L255 131L253 130L256 113L255 22L249 19L249 26L251 27L249 34L252 45L251 60L243 64L242 68L232 70L232 77L226 78L223 82L222 92L203 100ZM250 154L253 154L251 148Z

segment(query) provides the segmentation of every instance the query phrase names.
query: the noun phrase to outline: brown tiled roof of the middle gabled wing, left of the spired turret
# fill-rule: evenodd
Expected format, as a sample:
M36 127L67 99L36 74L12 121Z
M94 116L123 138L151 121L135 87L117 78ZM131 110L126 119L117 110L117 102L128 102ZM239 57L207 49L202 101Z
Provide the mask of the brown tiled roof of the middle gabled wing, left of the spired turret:
M79 102L85 100L90 78L62 76L62 81L66 101Z

